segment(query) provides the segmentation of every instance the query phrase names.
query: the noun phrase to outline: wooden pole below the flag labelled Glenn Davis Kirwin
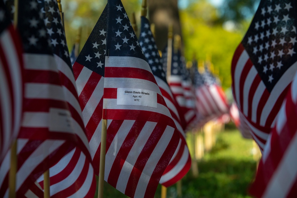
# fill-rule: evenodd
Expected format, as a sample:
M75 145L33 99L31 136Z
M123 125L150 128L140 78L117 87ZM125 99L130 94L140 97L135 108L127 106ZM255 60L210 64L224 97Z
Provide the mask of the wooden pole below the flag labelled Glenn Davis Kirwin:
M98 198L103 198L105 153L106 153L106 134L107 134L107 120L102 119Z

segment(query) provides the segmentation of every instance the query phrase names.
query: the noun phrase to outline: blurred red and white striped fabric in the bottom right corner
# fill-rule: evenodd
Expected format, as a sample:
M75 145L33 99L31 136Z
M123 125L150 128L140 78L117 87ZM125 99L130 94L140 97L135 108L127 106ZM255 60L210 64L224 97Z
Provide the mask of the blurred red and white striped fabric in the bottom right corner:
M297 75L277 115L257 176L250 188L255 197L297 196Z

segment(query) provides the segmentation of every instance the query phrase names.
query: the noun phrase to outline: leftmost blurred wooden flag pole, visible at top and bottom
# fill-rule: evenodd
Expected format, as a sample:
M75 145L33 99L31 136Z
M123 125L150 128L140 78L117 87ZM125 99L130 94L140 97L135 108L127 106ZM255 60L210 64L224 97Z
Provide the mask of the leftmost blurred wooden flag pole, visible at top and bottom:
M17 29L18 26L18 0L14 0L15 13L13 15L13 27ZM18 168L18 153L17 153L17 139L12 142L10 149L10 170L9 170L9 198L16 197L16 175Z

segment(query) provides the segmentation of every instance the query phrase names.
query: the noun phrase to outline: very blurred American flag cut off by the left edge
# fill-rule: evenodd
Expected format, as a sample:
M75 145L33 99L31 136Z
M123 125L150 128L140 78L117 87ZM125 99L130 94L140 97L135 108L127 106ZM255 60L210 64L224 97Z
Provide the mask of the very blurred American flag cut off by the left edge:
M0 161L20 129L23 103L23 57L19 35L0 1Z

